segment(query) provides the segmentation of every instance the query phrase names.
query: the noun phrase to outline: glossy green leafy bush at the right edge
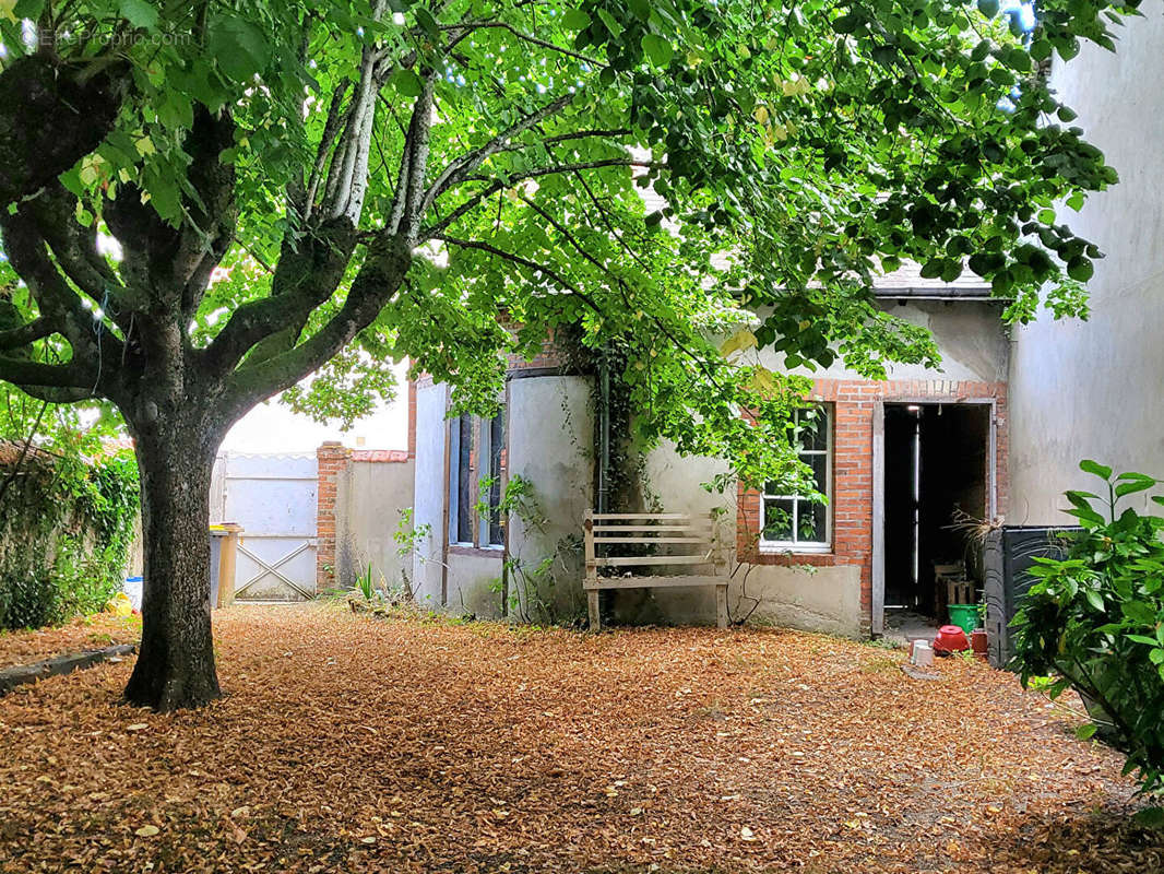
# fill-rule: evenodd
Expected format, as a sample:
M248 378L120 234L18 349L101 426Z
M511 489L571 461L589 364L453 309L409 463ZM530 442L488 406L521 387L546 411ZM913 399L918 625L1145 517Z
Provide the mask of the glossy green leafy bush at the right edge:
M1074 688L1096 734L1127 756L1126 774L1138 770L1143 791L1164 789L1164 519L1128 507L1121 499L1159 480L1121 473L1095 461L1080 468L1103 481L1105 495L1067 492L1083 530L1069 535L1062 561L1038 558L1015 618L1015 663L1023 685L1049 677L1057 697ZM1152 501L1164 505L1164 498Z

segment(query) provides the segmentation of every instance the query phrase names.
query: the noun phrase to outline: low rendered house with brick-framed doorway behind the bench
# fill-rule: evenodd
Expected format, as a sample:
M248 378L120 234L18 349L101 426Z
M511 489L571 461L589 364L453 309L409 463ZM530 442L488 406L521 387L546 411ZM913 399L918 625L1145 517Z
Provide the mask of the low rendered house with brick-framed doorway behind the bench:
M743 489L711 494L701 484L726 465L667 446L645 459L655 506L726 510L721 538L736 570L733 618L867 636L882 632L887 611L932 615L934 564L967 551L952 526L994 519L1006 506L1009 331L1001 303L973 277L935 284L908 269L876 295L932 332L943 364L894 366L886 381L839 364L807 374L823 427L804 442L803 459L828 506ZM782 364L771 351L761 362ZM448 386L418 381L412 583L421 602L535 620L584 611L580 536L597 494L594 380L563 369L551 340L533 361L510 361L492 420L448 418ZM517 478L531 506L511 512L508 526L491 522L481 510L497 507ZM616 620L715 621L710 588L612 594Z

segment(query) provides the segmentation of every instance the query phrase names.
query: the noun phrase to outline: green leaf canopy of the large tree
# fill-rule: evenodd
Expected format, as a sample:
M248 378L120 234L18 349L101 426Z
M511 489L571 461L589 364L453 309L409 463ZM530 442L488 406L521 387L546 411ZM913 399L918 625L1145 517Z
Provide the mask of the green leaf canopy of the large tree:
M1081 40L1114 47L1112 28L1137 6L1049 0L1028 37L993 0L214 0L198 14L22 0L16 20L0 20L0 75L31 49L24 16L63 69L119 77L113 129L62 177L76 220L102 232L128 186L165 223L198 224L207 169L192 131L229 114L212 168L234 174L230 214L211 217L227 228L221 265L205 295L192 289L168 313L211 361L223 333L247 334L242 366L222 371L229 390L205 396L254 401L248 392L294 386L347 341L289 392L293 407L349 423L391 394L389 361L409 357L453 383L455 411L488 415L508 358L570 330L617 366L637 446L668 438L729 457L758 485L803 474L780 436L808 382L785 371L840 361L882 378L887 361L938 362L923 329L872 297L903 261L944 281L978 274L1012 319L1041 303L1085 312L1101 253L1059 204L1079 209L1116 174L1039 68ZM335 119L364 84L376 90L367 125L340 135ZM427 138L414 179L411 119ZM349 129L369 132L362 147ZM254 337L226 331L262 322L256 305L281 275L286 291L321 270L326 246L281 274L315 242L333 245L310 218L349 139L370 161L348 235L359 244L329 249L339 279L301 318ZM402 204L402 182L426 197ZM393 238L411 258L403 281L377 260L402 226L397 207L414 211ZM114 265L126 288L83 289L107 343L125 339L127 313L149 296L133 279L144 269ZM367 290L360 277L383 288L376 305L349 308ZM40 315L24 292L13 306L26 322ZM715 341L740 331L751 347ZM84 344L51 334L27 354L68 360L70 345ZM781 366L753 350L774 350ZM97 380L114 367L102 365Z

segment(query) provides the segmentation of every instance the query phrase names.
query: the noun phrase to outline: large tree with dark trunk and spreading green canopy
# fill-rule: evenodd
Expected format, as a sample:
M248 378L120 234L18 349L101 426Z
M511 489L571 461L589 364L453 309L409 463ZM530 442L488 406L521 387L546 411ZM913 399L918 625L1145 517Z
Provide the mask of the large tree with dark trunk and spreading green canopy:
M0 1L0 380L136 440L129 700L219 695L211 465L319 368L359 395L407 354L482 407L568 325L647 437L796 475L803 382L709 336L934 361L872 302L903 259L1079 311L1099 253L1056 204L1115 174L1043 68L1135 5L1048 0L1028 33L998 0Z

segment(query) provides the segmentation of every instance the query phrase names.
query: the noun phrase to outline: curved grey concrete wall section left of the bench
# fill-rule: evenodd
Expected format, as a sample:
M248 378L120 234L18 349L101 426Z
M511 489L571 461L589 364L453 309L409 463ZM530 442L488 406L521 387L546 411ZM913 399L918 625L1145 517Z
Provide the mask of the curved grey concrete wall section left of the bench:
M582 516L594 506L594 408L587 376L535 376L509 383L509 475L521 475L535 489L538 524L511 517L509 547L524 566L554 556L552 587L539 593L559 615L581 614ZM532 602L513 583L526 615Z

